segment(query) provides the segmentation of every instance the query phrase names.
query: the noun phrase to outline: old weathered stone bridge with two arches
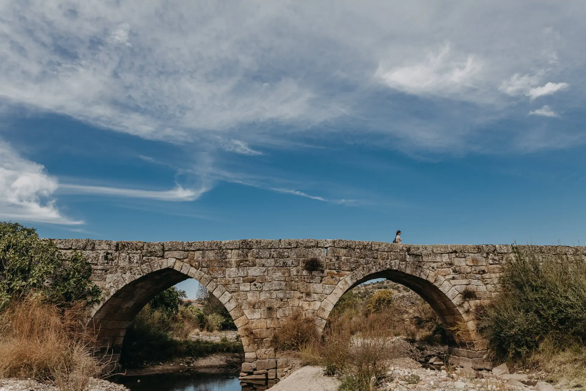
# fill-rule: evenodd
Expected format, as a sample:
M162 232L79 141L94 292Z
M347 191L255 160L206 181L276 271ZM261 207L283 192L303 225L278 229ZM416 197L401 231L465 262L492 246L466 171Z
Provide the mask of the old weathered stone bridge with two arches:
M96 348L113 364L120 358L126 328L141 308L166 288L195 278L234 319L245 352L242 371L266 374L268 379L280 378L286 370L274 350L285 319L301 310L315 318L322 332L340 296L373 278L403 284L431 305L447 329L452 362L490 368L483 360L487 346L476 330L473 310L499 291L503 263L512 257L507 244L419 246L316 239L54 242L63 252L83 251L92 265L91 280L104 293L90 311L99 330ZM586 257L586 247L520 247L532 247L542 257Z

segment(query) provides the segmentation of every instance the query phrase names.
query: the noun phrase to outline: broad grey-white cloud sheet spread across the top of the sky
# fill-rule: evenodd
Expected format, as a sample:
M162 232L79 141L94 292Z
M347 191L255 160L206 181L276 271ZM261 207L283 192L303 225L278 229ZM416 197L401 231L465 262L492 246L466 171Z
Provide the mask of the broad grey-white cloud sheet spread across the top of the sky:
M402 140L389 142L392 148L406 151L469 150L482 132L490 139L489 121L524 110L506 106L499 86L518 98L551 94L543 83L576 85L586 62L579 0L530 7L505 0L251 0L229 7L28 0L0 2L0 15L2 103L248 155L263 142L292 145L308 129L316 138L332 130L389 135ZM539 69L542 77L533 80ZM438 109L423 101L410 112L381 83L458 103ZM577 106L581 90L571 91ZM472 110L462 114L462 102ZM356 126L348 130L348 123Z

